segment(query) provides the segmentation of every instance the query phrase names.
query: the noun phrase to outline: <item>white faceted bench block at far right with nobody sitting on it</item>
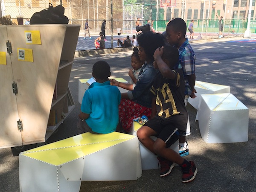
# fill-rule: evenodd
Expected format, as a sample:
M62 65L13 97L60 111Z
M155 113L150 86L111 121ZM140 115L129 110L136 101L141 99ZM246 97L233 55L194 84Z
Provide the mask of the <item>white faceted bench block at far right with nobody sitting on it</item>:
M231 93L203 94L198 122L206 143L248 141L249 110Z

